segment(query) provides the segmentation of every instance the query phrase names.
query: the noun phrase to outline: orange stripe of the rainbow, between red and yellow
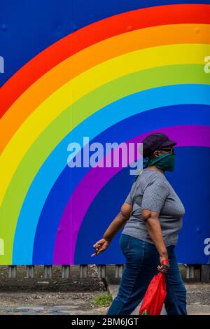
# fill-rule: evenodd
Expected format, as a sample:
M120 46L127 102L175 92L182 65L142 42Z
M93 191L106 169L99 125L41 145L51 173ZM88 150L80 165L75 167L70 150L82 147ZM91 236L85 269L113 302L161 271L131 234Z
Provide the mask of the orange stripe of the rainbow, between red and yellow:
M210 25L163 25L130 31L85 48L45 73L10 106L0 123L0 150L38 105L78 74L127 52L176 43L210 43L209 36Z

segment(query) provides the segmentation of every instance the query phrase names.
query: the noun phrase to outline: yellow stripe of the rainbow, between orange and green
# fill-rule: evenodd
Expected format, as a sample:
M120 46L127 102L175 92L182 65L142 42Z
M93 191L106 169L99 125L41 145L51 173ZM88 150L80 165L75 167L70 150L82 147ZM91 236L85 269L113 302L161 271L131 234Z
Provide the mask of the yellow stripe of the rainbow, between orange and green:
M210 45L179 44L163 45L129 52L76 76L52 94L38 106L31 116L22 124L10 140L1 155L1 190L0 204L6 188L27 150L34 143L45 127L47 127L67 107L92 90L109 83L109 81L127 74L158 66L173 64L205 64L204 57L209 55ZM71 74L69 74L71 76ZM34 95L36 97L36 95ZM69 126L73 126L73 113L69 118ZM70 131L70 129L69 129Z

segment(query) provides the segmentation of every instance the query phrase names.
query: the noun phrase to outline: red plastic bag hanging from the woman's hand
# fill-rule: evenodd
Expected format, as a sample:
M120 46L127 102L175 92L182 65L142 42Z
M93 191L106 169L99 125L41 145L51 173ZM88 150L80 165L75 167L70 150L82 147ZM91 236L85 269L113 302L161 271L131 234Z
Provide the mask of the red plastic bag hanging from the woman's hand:
M139 315L160 315L166 295L166 274L156 274L146 290Z

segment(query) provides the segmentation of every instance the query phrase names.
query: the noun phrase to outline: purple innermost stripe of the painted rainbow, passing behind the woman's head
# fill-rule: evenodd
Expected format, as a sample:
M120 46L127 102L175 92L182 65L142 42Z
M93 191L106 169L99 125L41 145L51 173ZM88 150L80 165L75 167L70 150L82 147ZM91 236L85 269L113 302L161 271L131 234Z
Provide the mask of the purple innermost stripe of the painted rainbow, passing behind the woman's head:
M153 130L141 134L125 143L140 143L148 134L153 132L163 132L169 138L177 141L176 147L180 146L204 146L210 147L210 126L202 125L178 125L165 127L160 130ZM140 155L138 155L138 158ZM137 160L137 159L135 159ZM104 162L106 163L106 162ZM80 181L76 190L71 195L69 202L64 209L57 236L55 240L53 263L58 265L74 264L74 252L76 239L80 230L80 225L85 217L87 209L106 183L116 175L122 167L107 168L96 167L90 171ZM81 201L81 195L84 195ZM73 205L73 207L72 207Z

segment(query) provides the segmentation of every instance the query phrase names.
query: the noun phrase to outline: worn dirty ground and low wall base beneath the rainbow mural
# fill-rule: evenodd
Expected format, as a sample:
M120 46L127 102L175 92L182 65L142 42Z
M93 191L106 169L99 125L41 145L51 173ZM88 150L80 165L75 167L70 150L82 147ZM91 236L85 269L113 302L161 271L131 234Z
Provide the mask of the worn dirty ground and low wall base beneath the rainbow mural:
M62 279L62 266L52 267L52 279L44 278L44 267L36 265L34 279L27 279L25 266L18 266L16 279L8 278L8 266L0 266L0 314L106 314L106 305L94 304L97 297L107 296L106 280L98 277L97 265L87 265L87 278L80 279L79 265L70 266L69 279ZM186 279L186 267L180 265L180 272L188 290L188 307L196 314L209 312L210 285L200 283L199 267L195 279ZM106 276L118 285L115 265L106 265ZM204 310L206 307L207 310Z

